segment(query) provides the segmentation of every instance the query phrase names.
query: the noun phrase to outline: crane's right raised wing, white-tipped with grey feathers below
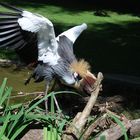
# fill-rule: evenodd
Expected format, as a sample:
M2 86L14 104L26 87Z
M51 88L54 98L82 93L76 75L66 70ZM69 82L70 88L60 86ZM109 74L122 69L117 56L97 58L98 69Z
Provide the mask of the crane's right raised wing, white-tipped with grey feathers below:
M85 23L68 29L57 36L59 42L58 52L59 55L68 63L76 61L76 57L73 52L73 44L79 35L87 28Z

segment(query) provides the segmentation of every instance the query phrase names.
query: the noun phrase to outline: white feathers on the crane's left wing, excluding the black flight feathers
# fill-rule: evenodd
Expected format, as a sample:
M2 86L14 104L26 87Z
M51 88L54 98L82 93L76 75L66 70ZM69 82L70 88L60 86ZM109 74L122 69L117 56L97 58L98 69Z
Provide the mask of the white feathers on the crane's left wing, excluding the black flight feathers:
M37 33L38 37L38 60L44 63L50 62L46 59L46 53L57 55L57 40L52 22L38 14L23 11L22 18L18 19L18 23L22 30ZM48 56L47 56L48 57ZM47 61L48 60L48 61Z

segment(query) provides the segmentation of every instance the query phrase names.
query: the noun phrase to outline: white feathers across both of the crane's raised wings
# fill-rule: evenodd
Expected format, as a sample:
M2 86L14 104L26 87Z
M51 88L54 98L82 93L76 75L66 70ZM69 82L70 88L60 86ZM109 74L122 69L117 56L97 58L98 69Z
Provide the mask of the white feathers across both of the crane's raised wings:
M56 38L53 24L49 19L28 11L23 11L22 16L18 19L21 29L37 33L38 60L51 65L56 65L60 58L57 52L59 37L65 35L74 43L82 31L87 28L87 25L83 23L63 32Z

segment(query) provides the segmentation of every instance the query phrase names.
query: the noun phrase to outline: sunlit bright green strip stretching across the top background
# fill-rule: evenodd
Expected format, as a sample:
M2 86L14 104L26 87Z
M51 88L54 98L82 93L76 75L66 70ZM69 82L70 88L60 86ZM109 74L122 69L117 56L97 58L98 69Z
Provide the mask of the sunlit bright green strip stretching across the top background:
M66 25L77 25L83 22L87 24L92 24L94 27L96 24L104 24L104 23L114 23L114 24L124 24L124 22L132 22L132 21L140 21L140 18L137 16L132 16L131 14L118 14L112 11L106 11L108 13L108 17L101 17L94 15L93 11L87 9L83 11L74 11L73 9L67 10L64 7L53 6L46 4L40 4L36 2L17 2L14 0L14 5L20 7L24 10L29 10L34 13L39 13L47 18L49 18L52 22L65 24ZM5 1L6 2L6 1ZM8 2L8 0L7 0ZM10 1L9 1L10 2ZM4 10L3 8L1 8ZM0 9L0 10L1 10Z

